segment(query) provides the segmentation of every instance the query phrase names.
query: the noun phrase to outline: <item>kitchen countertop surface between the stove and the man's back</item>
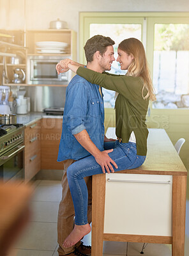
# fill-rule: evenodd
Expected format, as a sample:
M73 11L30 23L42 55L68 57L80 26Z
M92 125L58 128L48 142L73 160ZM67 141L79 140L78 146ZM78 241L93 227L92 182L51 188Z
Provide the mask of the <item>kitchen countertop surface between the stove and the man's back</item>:
M26 115L17 115L17 124L31 125L42 118L63 118L63 115L46 115L43 112L30 112Z

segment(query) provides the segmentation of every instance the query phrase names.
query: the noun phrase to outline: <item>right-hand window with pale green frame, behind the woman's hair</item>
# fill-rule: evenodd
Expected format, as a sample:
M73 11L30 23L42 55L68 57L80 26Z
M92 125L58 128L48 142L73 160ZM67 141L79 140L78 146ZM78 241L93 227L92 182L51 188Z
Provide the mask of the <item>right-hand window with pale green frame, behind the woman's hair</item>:
M174 15L149 18L149 33L153 36L149 51L153 54L151 69L157 98L153 108L189 107L189 19Z

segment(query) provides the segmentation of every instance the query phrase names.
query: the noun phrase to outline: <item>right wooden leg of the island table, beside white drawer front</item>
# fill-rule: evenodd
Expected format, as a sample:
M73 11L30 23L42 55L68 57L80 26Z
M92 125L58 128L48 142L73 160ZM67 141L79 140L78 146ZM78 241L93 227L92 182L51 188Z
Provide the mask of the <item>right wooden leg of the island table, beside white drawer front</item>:
M186 176L172 179L172 256L185 256Z

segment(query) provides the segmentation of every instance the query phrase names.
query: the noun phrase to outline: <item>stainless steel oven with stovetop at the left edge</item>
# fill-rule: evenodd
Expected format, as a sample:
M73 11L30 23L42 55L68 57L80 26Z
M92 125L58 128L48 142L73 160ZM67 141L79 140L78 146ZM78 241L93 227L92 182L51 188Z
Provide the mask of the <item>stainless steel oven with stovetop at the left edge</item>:
M0 178L24 180L24 126L2 125L1 129L6 134L0 137Z

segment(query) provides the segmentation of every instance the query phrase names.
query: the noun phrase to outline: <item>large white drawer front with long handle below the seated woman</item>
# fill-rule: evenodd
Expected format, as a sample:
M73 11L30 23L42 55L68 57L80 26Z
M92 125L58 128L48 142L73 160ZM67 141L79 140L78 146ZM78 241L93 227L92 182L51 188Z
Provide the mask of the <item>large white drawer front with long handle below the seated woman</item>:
M104 232L172 236L172 176L106 174Z

